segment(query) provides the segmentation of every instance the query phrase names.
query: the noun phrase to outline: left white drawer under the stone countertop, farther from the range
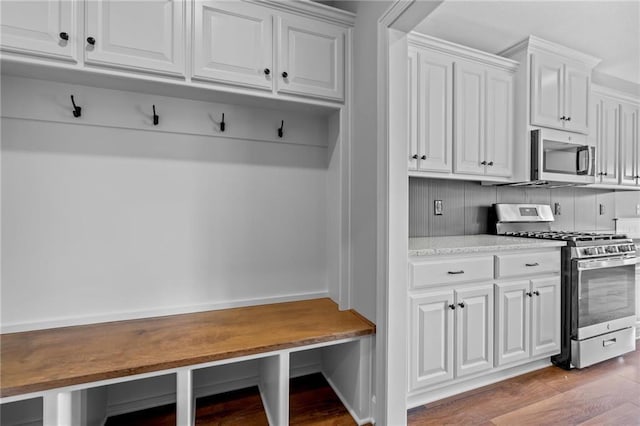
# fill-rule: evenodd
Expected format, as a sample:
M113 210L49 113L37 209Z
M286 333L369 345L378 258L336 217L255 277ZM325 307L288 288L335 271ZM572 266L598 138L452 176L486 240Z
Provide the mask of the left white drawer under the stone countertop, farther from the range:
M493 256L409 263L411 288L493 279Z

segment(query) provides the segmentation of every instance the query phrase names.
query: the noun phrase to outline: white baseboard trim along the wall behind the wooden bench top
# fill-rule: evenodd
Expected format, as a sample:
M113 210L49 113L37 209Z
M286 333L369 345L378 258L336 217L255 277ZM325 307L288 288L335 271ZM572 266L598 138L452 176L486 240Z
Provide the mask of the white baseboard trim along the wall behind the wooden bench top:
M297 300L320 299L330 297L328 291L296 293L283 296L260 297L253 299L239 299L224 302L206 303L200 305L173 306L162 309L149 309L139 311L113 312L103 315L72 316L65 318L53 318L44 321L33 322L9 322L2 324L0 333L17 333L22 331L43 330L56 327L70 327L74 325L96 324L102 322L124 321L166 315L189 314L204 311L216 311L220 309L238 308L243 306L269 305L273 303L293 302Z

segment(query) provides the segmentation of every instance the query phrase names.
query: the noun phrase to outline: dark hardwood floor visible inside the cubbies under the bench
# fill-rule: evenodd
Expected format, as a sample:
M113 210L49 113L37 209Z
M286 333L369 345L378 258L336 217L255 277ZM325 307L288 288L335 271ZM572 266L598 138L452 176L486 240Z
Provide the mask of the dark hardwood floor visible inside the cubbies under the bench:
M322 374L291 379L289 424L356 425ZM109 417L105 426L173 426L175 404ZM196 426L268 426L256 386L196 400Z

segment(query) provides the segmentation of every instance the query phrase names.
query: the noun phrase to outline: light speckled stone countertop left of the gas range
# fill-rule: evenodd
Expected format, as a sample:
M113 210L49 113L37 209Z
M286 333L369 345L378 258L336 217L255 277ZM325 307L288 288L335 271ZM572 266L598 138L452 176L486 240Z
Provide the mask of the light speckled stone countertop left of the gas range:
M564 241L500 235L456 235L448 237L409 238L409 256L469 254L501 250L562 247Z

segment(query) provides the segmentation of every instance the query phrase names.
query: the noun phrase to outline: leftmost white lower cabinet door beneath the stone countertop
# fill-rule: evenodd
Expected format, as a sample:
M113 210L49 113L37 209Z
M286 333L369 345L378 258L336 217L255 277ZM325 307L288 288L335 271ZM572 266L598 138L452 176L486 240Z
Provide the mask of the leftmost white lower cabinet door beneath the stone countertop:
M411 296L410 390L453 379L453 291Z

